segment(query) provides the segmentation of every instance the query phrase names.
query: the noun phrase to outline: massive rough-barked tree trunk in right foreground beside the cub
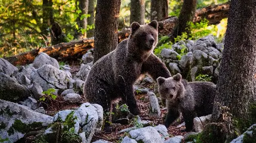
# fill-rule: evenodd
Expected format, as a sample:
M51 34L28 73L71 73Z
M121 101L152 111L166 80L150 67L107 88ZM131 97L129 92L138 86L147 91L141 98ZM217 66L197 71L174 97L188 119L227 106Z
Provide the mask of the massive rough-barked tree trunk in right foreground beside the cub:
M248 120L249 104L256 100L255 71L255 0L232 0L215 101L229 107L234 119ZM214 118L218 111L215 106Z

